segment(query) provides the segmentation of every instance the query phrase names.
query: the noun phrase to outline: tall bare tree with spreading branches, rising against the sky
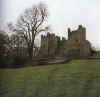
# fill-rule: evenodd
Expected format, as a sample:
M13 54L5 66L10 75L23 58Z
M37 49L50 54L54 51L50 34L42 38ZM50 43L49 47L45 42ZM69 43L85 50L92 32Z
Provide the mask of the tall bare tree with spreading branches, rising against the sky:
M9 28L14 32L19 33L25 39L28 49L29 57L33 58L35 48L35 38L42 32L48 30L48 27L44 27L48 17L47 7L45 4L40 3L34 5L32 8L28 8L18 18L17 23L12 26L9 24Z

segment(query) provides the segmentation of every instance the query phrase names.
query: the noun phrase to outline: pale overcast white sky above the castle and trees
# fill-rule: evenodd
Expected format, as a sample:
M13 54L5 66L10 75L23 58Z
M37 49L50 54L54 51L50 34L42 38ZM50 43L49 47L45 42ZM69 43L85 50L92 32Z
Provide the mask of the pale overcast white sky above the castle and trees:
M26 9L39 2L48 6L52 32L67 37L67 29L86 27L87 40L100 48L100 0L0 0L0 25L15 22Z

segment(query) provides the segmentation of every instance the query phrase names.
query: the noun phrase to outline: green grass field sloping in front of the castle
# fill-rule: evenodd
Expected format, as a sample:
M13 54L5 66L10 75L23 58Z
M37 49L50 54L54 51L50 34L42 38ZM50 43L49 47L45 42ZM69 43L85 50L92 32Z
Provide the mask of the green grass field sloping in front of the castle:
M100 60L0 69L0 97L100 97Z

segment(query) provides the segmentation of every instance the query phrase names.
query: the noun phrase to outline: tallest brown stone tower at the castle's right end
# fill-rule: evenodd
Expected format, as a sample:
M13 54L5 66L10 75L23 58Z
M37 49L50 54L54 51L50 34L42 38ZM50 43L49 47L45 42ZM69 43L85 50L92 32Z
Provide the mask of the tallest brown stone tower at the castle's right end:
M68 42L67 48L72 57L86 58L91 55L90 43L86 40L86 28L82 25L78 26L78 29L70 31L68 29Z

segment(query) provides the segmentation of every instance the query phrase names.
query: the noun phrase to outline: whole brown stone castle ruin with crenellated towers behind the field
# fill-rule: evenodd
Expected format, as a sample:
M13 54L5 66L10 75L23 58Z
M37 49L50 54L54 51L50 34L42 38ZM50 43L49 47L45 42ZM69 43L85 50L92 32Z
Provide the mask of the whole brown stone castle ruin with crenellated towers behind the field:
M87 58L91 56L91 44L86 40L86 28L79 25L77 30L68 28L68 39L48 33L41 36L40 53L49 57Z

